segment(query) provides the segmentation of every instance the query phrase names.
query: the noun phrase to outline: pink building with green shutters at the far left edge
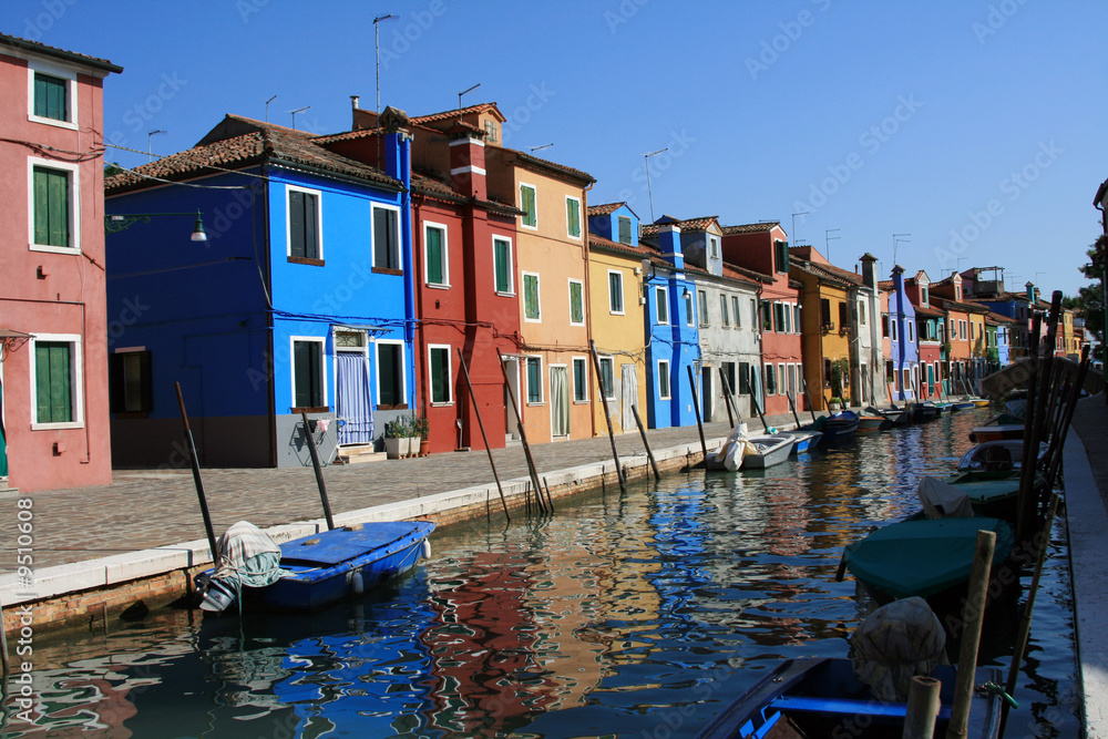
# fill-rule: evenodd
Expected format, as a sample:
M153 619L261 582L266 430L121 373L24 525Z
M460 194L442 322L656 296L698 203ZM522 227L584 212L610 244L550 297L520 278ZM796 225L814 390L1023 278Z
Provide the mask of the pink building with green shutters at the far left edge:
M101 95L122 71L0 34L0 490L112 480Z

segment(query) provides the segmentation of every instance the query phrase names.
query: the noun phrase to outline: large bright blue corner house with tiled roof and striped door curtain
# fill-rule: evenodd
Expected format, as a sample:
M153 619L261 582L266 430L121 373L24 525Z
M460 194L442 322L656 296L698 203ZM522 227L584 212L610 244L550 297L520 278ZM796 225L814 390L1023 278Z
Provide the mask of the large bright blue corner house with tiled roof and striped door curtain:
M175 382L212 466L308 463L301 411L325 459L410 412L410 138L389 111L384 172L228 115L105 183L116 464L184 463Z

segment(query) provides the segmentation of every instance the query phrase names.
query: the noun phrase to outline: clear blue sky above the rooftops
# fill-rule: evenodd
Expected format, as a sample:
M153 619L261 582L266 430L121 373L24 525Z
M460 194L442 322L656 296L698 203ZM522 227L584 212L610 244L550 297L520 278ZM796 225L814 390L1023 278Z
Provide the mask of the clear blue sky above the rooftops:
M350 95L409 114L494 101L506 143L589 172L593 204L781 220L853 268L1005 267L1076 292L1108 178L1095 0L6 0L0 30L124 66L106 135L187 148L225 113L328 133ZM134 166L145 156L110 152ZM808 215L792 214L807 212ZM792 224L796 220L796 228ZM837 230L835 230L837 229ZM830 234L829 234L830 232ZM835 240L828 240L838 237Z

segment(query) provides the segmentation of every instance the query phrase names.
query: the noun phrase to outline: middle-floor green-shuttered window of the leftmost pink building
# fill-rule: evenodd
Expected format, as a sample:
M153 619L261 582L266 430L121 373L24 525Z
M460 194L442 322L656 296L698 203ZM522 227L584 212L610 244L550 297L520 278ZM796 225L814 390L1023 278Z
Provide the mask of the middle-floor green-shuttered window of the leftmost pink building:
M78 166L49 160L29 160L31 248L74 252L81 248L80 181Z

